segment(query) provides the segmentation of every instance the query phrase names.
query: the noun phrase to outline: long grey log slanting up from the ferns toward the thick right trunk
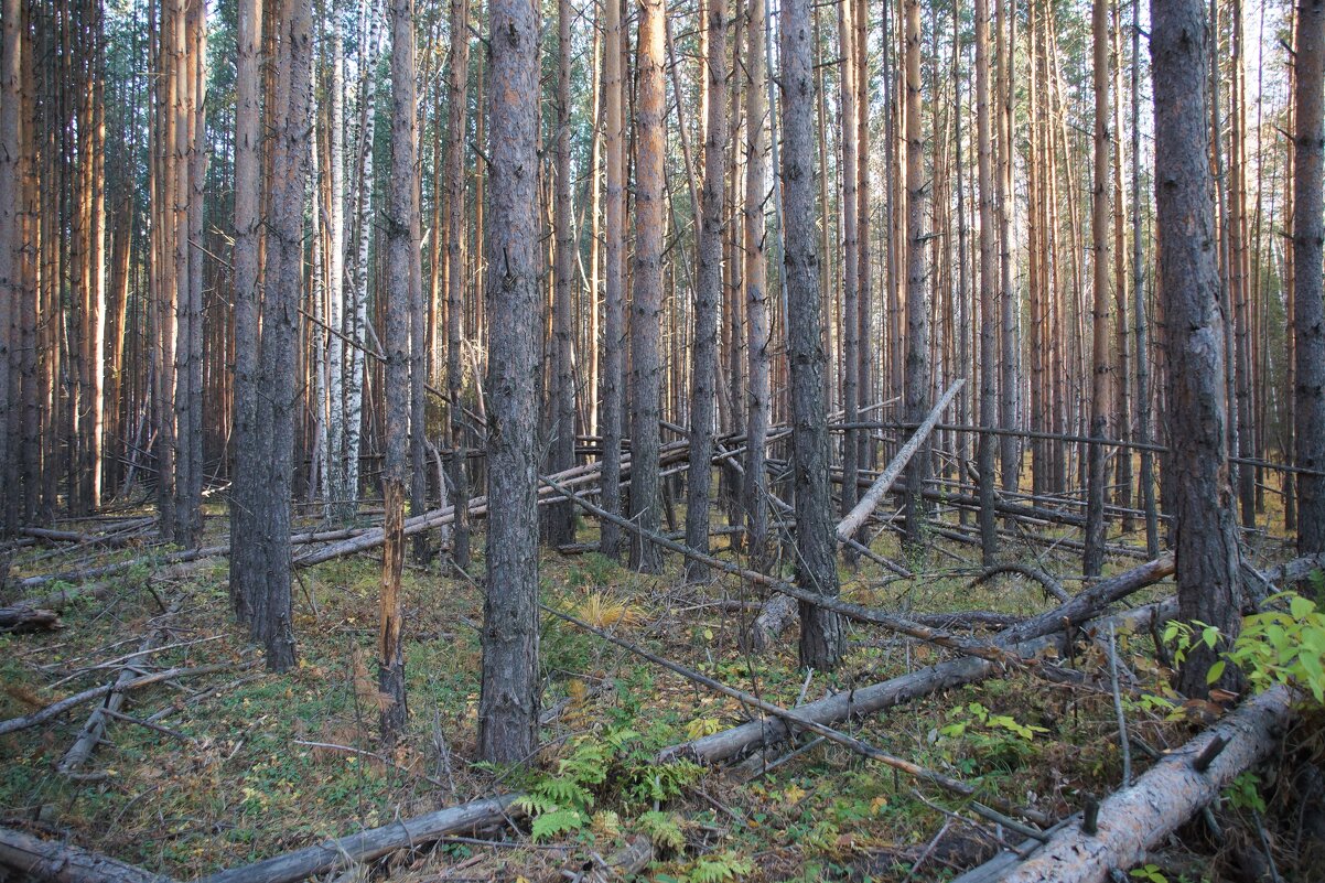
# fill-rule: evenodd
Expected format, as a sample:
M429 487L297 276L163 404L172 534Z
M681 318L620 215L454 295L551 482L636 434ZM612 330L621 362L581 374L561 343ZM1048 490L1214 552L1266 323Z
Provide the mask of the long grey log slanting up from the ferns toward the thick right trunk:
M1133 631L1142 631L1147 630L1153 622L1167 620L1177 610L1177 605L1169 601L1129 610L1104 619L1097 626L1106 628L1109 623L1113 623L1118 630L1130 628ZM1008 632L1004 631L1003 634ZM1031 659L1055 647L1059 638L1060 635L1057 634L1044 635L1011 644L1007 650L1022 659ZM941 689L983 680L998 671L1000 668L986 659L950 659L878 684L844 691L827 699L806 703L796 708L796 715L822 724L860 719L896 705L904 705ZM780 742L787 738L788 733L790 728L784 721L776 717L765 717L733 727L721 733L673 745L664 749L660 758L688 757L701 764L718 764L739 757L751 749Z

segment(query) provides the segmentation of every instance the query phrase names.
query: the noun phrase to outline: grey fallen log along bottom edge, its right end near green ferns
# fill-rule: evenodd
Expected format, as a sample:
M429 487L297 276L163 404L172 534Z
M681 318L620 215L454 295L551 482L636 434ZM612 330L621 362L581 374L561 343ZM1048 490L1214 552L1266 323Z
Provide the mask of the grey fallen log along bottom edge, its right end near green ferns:
M295 883L314 874L326 874L350 864L372 862L396 850L425 846L447 834L458 834L504 822L511 815L519 814L514 806L517 799L515 794L489 797L425 815L399 819L382 827L348 834L334 841L323 841L285 855L276 855L254 864L227 868L203 878L200 883Z

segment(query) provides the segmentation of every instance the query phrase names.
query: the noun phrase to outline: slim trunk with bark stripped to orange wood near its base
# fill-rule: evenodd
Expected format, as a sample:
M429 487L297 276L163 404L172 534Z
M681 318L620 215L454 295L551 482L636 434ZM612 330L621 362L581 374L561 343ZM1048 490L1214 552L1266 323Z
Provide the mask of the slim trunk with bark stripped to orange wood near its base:
M405 448L421 444L423 426L411 419L411 362L419 244L419 190L415 183L415 48L413 0L391 0L391 195L387 213L387 456L382 477L386 502L382 552L382 599L378 628L378 691L382 741L395 745L405 723L404 650L400 642L404 609L400 575L404 567ZM421 464L415 469L421 472ZM417 501L415 501L417 502ZM413 512L412 514L423 514ZM421 534L420 534L421 536Z

